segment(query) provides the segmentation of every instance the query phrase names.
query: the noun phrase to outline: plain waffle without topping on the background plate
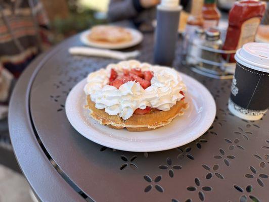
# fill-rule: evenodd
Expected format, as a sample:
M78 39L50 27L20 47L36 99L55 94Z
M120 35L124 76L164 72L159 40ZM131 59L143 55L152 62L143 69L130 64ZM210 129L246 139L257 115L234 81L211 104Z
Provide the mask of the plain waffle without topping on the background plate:
M103 43L122 43L132 40L131 33L122 27L99 25L91 29L88 40Z

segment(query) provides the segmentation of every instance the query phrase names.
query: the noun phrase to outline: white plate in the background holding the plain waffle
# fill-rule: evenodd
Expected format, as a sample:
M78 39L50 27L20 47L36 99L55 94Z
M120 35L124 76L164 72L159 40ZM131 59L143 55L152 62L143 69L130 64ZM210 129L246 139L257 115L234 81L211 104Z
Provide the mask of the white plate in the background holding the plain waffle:
M80 40L84 45L89 45L93 47L99 47L99 48L107 48L107 49L123 49L127 47L135 46L143 40L143 34L136 30L131 28L124 28L128 30L132 35L132 40L128 42L122 42L122 43L100 43L100 42L94 42L87 39L87 36L89 33L91 33L91 29L86 30L81 33Z

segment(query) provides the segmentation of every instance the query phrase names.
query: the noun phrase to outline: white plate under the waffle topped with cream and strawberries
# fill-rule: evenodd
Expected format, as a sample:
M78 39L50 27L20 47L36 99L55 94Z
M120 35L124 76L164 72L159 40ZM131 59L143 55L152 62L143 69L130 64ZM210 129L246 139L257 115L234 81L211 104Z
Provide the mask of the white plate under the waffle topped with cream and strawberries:
M126 151L160 151L187 144L211 126L216 115L215 101L210 92L197 80L181 73L187 85L186 101L190 107L185 114L176 117L170 124L145 132L115 130L100 125L89 118L85 105L83 87L80 81L69 93L65 110L69 122L84 137L98 144Z

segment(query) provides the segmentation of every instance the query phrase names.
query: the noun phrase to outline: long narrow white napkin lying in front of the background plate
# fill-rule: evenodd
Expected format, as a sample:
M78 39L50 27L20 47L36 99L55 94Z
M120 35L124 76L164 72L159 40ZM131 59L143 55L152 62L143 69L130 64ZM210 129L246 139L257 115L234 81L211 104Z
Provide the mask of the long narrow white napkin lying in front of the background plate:
M139 51L120 52L120 51L111 51L109 49L99 49L83 46L70 47L68 51L71 55L95 56L95 57L113 58L118 60L127 60L129 58L136 58L140 55Z

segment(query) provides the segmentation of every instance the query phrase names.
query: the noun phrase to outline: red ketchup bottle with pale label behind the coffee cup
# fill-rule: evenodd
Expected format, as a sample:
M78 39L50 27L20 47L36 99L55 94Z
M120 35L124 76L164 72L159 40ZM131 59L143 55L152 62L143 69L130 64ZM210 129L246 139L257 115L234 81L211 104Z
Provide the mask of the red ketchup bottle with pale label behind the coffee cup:
M229 13L229 27L222 49L233 51L241 48L245 43L253 42L264 12L264 2L236 2ZM234 54L230 56L229 62L236 62L234 56ZM228 55L223 55L226 60L227 57Z

